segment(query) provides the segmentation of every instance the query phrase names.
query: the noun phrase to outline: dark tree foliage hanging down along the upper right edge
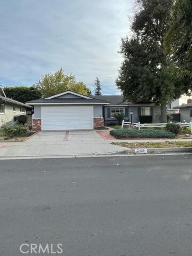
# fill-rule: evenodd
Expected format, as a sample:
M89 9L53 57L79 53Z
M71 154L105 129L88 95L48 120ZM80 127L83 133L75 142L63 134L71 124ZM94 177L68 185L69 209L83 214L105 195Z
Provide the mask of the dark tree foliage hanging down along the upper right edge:
M164 46L184 76L186 93L192 89L192 0L176 0L170 15L170 27Z

